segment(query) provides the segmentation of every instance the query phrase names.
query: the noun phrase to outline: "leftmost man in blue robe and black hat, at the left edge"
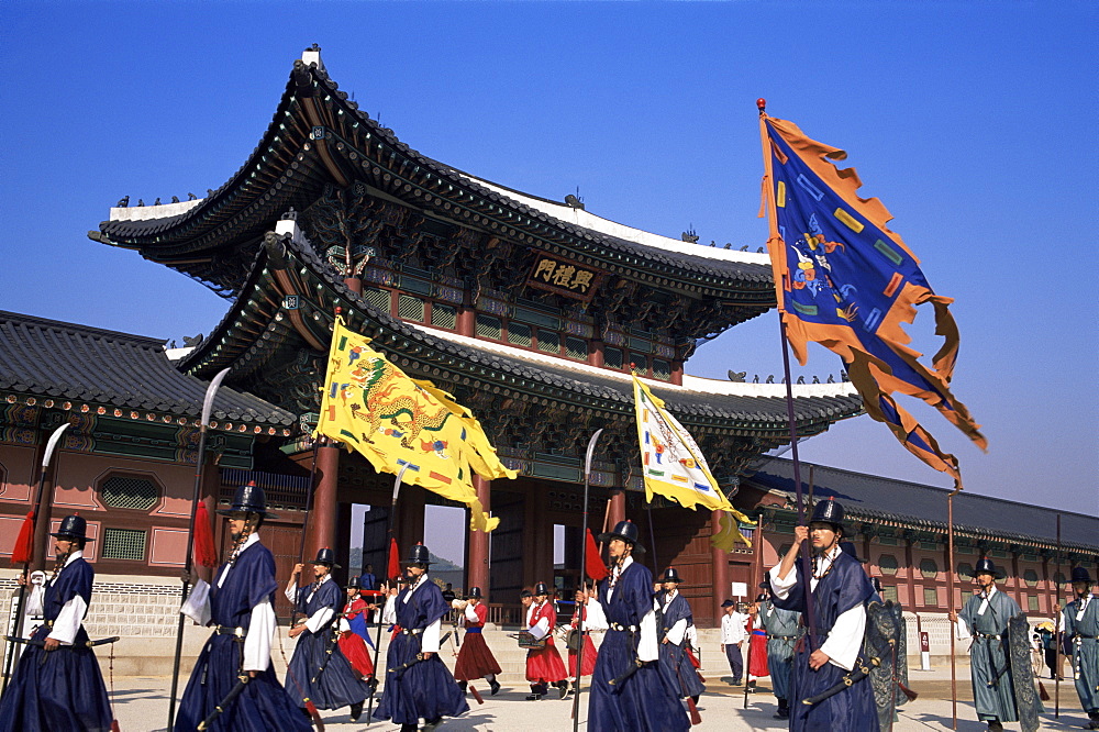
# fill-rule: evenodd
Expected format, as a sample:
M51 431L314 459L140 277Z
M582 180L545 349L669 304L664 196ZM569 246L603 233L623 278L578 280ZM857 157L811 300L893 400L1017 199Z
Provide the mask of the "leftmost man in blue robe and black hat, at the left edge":
M31 639L52 646L29 645L19 659L3 698L0 730L53 732L109 730L111 705L88 633L80 622L91 602L96 573L84 558L87 523L67 515L56 533L57 569L31 596L45 622ZM15 651L18 653L18 650Z

